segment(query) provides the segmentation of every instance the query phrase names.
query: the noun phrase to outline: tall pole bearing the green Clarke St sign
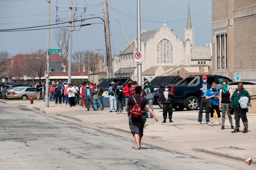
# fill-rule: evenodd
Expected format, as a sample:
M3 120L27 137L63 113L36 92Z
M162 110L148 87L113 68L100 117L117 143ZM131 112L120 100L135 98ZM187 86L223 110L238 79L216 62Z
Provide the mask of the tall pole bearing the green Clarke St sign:
M45 82L45 107L49 107L49 65L50 65L50 56L48 49L50 49L50 0L48 3L48 29L47 29L47 50L46 50L46 71L48 71L48 77L46 77Z

